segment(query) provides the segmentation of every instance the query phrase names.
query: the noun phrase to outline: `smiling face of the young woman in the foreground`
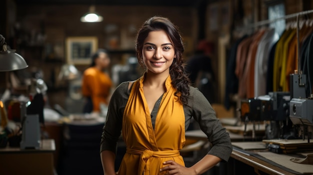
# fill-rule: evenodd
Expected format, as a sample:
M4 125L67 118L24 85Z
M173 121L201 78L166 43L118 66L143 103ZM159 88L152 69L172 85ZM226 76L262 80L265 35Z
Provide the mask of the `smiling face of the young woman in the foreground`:
M146 71L154 74L168 73L175 57L174 46L163 30L150 31L144 39L142 58Z

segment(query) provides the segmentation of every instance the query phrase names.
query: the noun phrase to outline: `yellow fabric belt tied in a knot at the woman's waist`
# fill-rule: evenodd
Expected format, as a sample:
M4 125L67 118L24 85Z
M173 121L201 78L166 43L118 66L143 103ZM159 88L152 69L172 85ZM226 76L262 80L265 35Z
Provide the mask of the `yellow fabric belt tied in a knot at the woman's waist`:
M150 150L133 150L126 149L126 153L140 155L138 174L137 175L149 175L150 169L150 161L149 159L152 157L159 158L169 158L169 157L177 157L180 156L178 150L170 150L170 151L150 151Z

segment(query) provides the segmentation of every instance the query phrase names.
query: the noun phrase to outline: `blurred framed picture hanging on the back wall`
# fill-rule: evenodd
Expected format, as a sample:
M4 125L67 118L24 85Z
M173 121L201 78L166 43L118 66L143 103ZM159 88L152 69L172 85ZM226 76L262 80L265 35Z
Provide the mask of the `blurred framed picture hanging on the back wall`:
M71 36L65 39L65 45L68 64L90 64L98 39L95 36Z

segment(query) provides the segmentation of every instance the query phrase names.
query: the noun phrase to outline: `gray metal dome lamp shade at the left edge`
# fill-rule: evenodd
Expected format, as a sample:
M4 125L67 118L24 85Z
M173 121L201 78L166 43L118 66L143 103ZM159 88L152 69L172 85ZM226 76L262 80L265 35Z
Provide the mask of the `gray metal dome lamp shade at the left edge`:
M28 67L24 58L15 53L15 50L8 49L0 51L0 71L19 70Z

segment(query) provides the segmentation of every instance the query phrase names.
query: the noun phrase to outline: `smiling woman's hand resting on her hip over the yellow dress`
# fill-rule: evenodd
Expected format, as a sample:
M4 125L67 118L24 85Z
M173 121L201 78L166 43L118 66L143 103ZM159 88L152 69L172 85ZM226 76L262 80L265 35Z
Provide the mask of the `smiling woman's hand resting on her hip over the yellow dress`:
M174 161L166 161L163 165L168 165L160 169L160 172L167 171L165 175L196 175L191 168L183 167Z

